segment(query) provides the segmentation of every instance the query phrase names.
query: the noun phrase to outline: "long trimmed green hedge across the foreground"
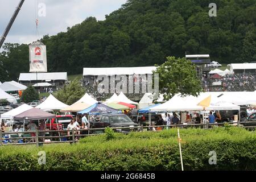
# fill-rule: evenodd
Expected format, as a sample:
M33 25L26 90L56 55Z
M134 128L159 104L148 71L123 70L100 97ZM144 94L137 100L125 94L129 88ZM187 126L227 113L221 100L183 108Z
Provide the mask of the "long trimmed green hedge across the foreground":
M111 135L109 137L108 135ZM181 129L184 170L255 170L256 134L237 127ZM38 152L46 164L38 164ZM210 151L217 164L210 165ZM0 170L181 170L177 130L107 134L76 144L1 146Z

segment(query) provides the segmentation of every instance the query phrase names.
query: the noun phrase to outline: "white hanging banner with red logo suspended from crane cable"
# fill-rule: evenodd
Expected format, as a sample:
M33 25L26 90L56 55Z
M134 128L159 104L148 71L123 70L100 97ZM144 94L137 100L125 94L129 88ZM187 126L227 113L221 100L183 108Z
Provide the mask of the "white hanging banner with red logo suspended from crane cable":
M40 42L33 42L30 49L30 72L47 72L46 46Z

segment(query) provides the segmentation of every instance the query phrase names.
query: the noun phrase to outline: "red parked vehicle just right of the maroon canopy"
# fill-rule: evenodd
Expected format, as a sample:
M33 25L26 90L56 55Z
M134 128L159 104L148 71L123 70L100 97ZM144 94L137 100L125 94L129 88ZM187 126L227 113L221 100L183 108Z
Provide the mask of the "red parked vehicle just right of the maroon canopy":
M72 115L56 115L56 118L47 119L46 128L49 130L65 130L73 119Z

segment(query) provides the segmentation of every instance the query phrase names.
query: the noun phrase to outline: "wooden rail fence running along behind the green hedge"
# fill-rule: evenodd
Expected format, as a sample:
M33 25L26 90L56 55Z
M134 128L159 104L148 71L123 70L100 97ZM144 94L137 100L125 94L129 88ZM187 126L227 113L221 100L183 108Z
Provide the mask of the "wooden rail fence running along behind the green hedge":
M243 126L242 124L252 124L252 126ZM113 127L114 131L121 131L124 134L130 131L153 131L155 129L168 129L171 127L201 127L202 129L212 129L212 126L222 126L227 123L200 123L200 124L180 124L180 125L162 125L162 126L137 126L137 127ZM229 122L237 127L255 128L256 122ZM23 145L36 144L36 147L42 146L44 143L76 143L78 139L92 135L104 134L105 128L97 129L80 129L80 130L45 130L45 131L19 131L19 132L5 132L0 131L0 146L5 145ZM70 134L71 133L71 134ZM86 133L86 134L81 134ZM32 137L34 135L34 137ZM47 136L49 135L49 136ZM56 140L57 139L57 140Z

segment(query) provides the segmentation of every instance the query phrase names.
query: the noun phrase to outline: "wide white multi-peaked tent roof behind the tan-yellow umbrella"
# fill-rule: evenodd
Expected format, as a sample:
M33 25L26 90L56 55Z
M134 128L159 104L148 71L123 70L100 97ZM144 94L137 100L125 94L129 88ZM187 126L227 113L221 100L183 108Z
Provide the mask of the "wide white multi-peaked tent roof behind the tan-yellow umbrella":
M211 102L209 107L202 107L199 104L200 101L211 96ZM166 103L150 108L150 111L195 111L195 110L240 110L240 106L234 105L229 102L223 101L221 98L214 96L213 94L206 92L201 93L198 97L186 96L181 97L180 94L176 94L171 100Z

